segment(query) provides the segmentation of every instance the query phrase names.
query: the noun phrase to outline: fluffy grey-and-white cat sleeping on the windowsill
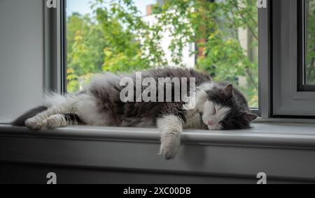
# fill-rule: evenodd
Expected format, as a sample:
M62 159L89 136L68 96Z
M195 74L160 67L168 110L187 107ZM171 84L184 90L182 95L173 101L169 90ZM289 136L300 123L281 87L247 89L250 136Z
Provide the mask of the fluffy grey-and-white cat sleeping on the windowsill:
M127 76L136 82L135 74ZM232 84L213 82L209 75L193 69L163 68L142 72L142 77L156 80L160 77L195 78L195 107L191 109L184 108L185 102L122 102L122 77L126 75L107 73L92 80L79 93L66 96L54 94L50 96L48 104L31 109L12 124L31 130L52 130L83 124L158 127L161 132L160 154L169 160L179 150L183 128L245 129L257 118L250 113L246 99L237 89L233 89Z

